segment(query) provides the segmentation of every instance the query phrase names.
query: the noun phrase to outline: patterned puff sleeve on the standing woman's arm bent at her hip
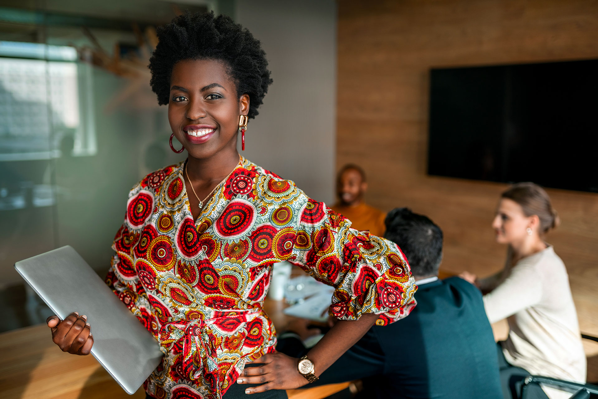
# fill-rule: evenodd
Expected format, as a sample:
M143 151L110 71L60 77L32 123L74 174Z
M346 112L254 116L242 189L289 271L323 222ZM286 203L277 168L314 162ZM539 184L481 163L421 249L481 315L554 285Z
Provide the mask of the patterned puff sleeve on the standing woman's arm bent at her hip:
M323 202L306 198L288 260L335 287L329 314L338 319L376 313L376 324L386 325L407 316L417 286L401 249L350 226Z

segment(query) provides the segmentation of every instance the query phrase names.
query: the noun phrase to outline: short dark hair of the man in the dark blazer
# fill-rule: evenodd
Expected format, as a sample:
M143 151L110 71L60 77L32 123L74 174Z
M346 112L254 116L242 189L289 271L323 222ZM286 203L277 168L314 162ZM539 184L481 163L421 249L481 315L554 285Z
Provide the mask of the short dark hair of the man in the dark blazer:
M424 215L395 208L386 215L384 237L396 243L407 257L414 276L438 274L443 258L443 231Z

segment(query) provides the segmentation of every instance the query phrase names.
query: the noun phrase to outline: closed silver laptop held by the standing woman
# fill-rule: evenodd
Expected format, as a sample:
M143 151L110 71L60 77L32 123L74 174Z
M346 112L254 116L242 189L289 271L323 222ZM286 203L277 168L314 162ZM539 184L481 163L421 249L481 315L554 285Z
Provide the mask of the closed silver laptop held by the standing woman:
M157 340L71 246L14 267L60 319L72 312L87 316L94 340L91 354L128 394L160 364Z

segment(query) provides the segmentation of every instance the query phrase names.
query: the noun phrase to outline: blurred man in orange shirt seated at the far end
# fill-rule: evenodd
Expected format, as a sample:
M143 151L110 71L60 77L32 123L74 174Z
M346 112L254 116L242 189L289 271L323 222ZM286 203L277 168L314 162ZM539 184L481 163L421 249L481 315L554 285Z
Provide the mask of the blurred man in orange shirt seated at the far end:
M370 230L370 234L382 237L386 230L386 214L364 202L368 189L365 172L353 164L343 166L337 176L338 202L331 208L350 221L357 230Z

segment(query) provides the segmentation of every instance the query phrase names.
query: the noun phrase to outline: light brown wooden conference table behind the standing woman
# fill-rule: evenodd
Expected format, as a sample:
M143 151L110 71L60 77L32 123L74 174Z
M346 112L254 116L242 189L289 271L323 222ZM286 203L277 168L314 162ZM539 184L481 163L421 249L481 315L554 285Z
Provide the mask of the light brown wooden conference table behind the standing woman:
M283 301L266 299L264 308L283 328L288 316ZM93 356L64 353L54 345L45 324L0 334L0 397L2 399L128 399L145 398L143 388L128 395ZM331 384L290 389L290 399L325 398L349 386Z

